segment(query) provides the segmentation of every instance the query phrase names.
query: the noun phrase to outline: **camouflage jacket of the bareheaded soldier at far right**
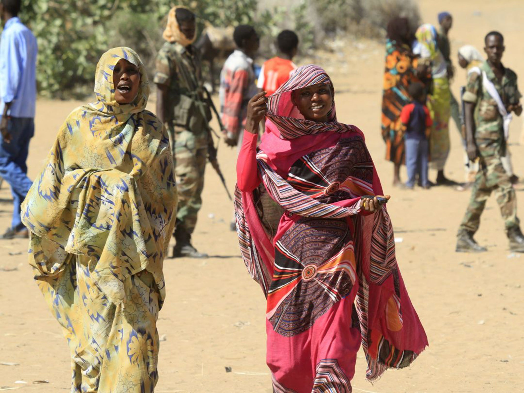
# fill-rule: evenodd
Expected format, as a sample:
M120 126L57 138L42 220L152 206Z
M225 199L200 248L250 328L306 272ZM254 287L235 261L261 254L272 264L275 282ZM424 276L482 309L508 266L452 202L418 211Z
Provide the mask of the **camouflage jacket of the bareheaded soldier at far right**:
M521 94L517 87L517 74L505 68L504 77L500 82L495 73L485 61L480 66L488 79L495 85L500 99L506 105L517 104ZM496 139L502 144L504 141L504 122L498 112L497 102L484 89L482 74L470 72L467 77L466 91L462 96L465 102L475 104L475 139Z

